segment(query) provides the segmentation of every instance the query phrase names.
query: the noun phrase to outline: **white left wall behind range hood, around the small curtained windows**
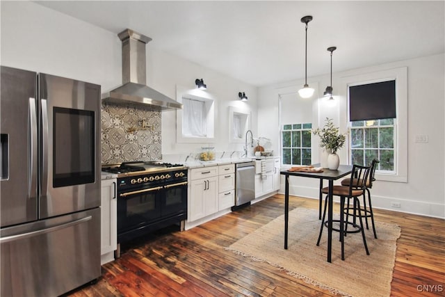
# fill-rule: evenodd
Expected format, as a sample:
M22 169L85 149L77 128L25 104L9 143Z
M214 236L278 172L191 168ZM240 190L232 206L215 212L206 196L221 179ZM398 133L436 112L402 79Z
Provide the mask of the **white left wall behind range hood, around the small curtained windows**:
M122 83L121 42L117 33L100 29L29 1L1 1L0 63L102 85L102 92ZM140 32L146 35L149 33ZM257 88L218 72L156 51L147 44L147 84L176 99L176 86L195 88L204 79L216 102L217 151L242 151L229 143L229 106L252 111L252 131L257 136ZM238 99L248 95L248 102ZM176 112L162 113L163 154L199 152L202 144L176 143Z

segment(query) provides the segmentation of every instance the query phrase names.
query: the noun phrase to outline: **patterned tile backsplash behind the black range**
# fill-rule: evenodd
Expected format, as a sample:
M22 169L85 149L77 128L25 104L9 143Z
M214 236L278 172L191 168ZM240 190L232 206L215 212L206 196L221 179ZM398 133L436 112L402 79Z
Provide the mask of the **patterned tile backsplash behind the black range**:
M102 164L162 159L161 112L102 104L101 127Z

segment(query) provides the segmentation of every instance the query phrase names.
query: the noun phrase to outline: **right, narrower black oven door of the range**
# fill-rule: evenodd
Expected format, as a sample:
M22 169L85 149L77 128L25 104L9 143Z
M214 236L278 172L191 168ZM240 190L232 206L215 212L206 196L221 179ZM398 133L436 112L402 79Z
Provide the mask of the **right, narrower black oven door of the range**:
M161 214L175 216L187 213L187 182L164 186L161 199ZM186 218L184 218L185 220Z

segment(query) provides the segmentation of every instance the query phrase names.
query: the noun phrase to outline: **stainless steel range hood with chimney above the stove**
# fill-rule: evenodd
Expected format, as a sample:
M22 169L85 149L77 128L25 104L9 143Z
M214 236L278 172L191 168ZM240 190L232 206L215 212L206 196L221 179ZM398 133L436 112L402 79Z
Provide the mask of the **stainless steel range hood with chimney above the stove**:
M147 86L145 45L152 40L126 29L122 40L122 86L102 94L103 102L136 104L154 111L182 109L182 104Z

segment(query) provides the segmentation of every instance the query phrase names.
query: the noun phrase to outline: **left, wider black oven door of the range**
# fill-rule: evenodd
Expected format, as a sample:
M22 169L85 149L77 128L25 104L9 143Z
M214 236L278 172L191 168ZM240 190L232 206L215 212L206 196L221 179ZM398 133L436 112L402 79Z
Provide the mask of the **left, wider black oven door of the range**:
M118 236L161 218L163 186L118 193Z

